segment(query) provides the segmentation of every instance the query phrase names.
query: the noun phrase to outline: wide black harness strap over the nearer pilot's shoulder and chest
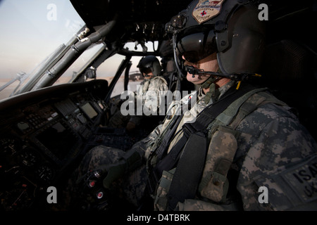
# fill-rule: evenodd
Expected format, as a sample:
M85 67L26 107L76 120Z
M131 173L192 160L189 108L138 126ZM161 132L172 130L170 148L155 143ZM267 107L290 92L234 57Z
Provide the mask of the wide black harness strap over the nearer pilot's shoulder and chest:
M168 192L169 210L175 209L178 202L183 202L187 198L194 198L196 195L199 180L204 170L204 162L206 160L206 153L208 150L206 138L204 138L204 140L201 139L201 131L206 129L206 127L208 127L209 124L211 124L211 122L220 115L220 113L223 113L223 111L227 111L228 113L228 111L235 108L236 111L231 113L236 114L236 108L240 108L240 105L242 105L251 95L263 90L265 89L254 89L254 87L249 85L244 86L244 88L240 91L234 91L232 94L223 98L223 101L220 101L220 104L213 104L211 107L206 108L200 113L197 121L193 124L184 124L183 127L185 127L190 134L195 131L200 132L196 133L195 136L189 136L189 139L188 134L183 135L182 137L182 139L188 139L188 141L185 141L186 146L182 151L182 156L178 162L178 166ZM232 107L230 107L231 105ZM230 122L230 120L227 122ZM182 140L178 143L182 144L181 142ZM175 148L182 148L182 146L176 146Z

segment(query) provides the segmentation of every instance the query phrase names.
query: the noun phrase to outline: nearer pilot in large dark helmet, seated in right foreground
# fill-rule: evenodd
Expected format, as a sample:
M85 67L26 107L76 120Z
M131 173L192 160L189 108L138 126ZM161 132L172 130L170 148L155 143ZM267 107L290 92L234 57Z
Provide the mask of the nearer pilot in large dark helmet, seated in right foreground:
M170 107L196 103L127 152L93 148L77 181L97 172L104 190L154 210L317 210L316 141L290 107L244 82L263 53L256 5L195 0L166 28L199 86Z

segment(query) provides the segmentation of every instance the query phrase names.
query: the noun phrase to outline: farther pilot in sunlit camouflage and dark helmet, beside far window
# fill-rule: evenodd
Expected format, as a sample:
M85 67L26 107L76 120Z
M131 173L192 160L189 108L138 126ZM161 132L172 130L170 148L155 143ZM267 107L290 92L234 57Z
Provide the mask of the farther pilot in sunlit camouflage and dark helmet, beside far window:
M149 105L151 112L147 113L149 116L163 114L158 111L160 106L159 96L163 94L164 91L168 91L168 83L166 79L161 76L161 64L159 59L155 56L144 56L139 60L137 68L139 68L139 71L144 77L144 81L141 82L139 89L135 93L136 107L134 115L123 115L121 111L118 111L109 120L108 127L122 127L123 124L126 124L125 128L131 132L135 127L141 124L142 118L145 116L143 113L144 105ZM156 102L154 103L153 101ZM156 105L157 108L152 107L152 105ZM142 115L137 115L136 112L142 112Z

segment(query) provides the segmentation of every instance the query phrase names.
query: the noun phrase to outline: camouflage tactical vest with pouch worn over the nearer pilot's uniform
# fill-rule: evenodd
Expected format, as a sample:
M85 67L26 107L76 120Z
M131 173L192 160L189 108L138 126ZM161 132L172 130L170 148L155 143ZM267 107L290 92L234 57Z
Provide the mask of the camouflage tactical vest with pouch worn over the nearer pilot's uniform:
M236 130L237 126L244 117L247 117L247 115L261 105L274 103L287 106L285 103L265 91L266 89L264 88L254 89L247 92L247 94L244 94L242 97L237 98L237 100L231 103L223 113L220 113L216 117L216 120L213 120L213 122L209 124L206 129L206 131L208 131L206 137L206 148L208 148L208 151L206 153L206 160L201 163L203 164L202 174L199 176L197 190L194 190L194 193L198 191L201 197L208 198L215 203L223 203L225 201L229 186L227 174L230 167L232 167L232 161L237 151L237 136L240 133ZM197 146L192 146L192 148L197 149ZM189 155L194 155L194 153L195 149L193 149L192 153L189 153ZM182 158L180 158L178 166L181 161ZM189 171L194 169L190 164L189 159L189 163L187 163ZM173 210L175 204L178 202L178 199L176 198L174 203L170 204L170 202L173 201L174 195L183 194L183 196L186 196L186 193L181 193L182 188L178 188L179 193L175 193L175 190L170 190L175 189L175 187L171 188L171 186L175 186L173 181L175 183L182 180L181 177L178 178L178 181L175 181L175 179L173 180L176 169L178 168L176 167L168 171L163 171L156 188L156 193L154 194L154 210ZM179 184L176 184L176 186L177 185Z

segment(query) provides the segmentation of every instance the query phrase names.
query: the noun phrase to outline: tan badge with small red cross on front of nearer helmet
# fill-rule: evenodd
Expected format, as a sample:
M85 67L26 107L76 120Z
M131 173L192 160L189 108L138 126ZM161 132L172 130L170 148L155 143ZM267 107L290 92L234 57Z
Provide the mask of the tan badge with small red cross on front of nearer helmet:
M223 1L200 0L192 11L192 16L199 24L204 23L220 13Z

